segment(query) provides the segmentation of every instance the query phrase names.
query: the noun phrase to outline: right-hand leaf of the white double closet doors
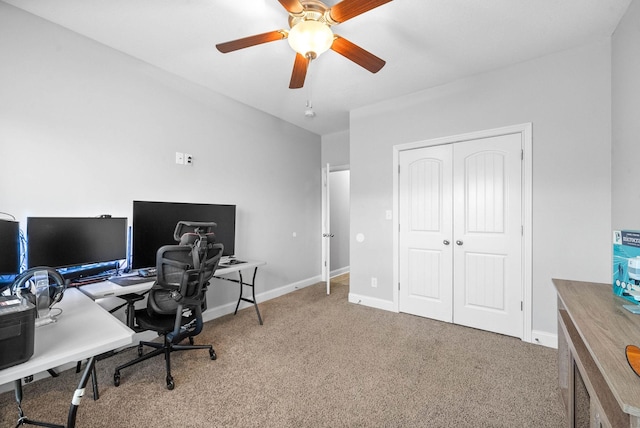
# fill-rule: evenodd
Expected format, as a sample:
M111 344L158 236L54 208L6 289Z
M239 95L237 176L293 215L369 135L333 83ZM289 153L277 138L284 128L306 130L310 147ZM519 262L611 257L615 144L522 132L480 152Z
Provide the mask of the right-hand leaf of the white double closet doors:
M453 322L522 337L521 136L453 153Z

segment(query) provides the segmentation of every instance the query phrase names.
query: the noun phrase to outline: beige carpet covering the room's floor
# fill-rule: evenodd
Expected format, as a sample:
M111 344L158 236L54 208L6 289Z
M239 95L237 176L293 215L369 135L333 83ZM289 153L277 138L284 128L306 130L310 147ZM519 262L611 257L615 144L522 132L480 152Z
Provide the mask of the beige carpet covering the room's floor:
M348 280L348 276L346 277ZM347 302L345 277L208 322L207 351L157 357L122 372L135 348L99 362L78 427L561 427L555 350L497 334ZM28 417L65 423L73 370L25 385ZM0 426L14 426L12 393Z

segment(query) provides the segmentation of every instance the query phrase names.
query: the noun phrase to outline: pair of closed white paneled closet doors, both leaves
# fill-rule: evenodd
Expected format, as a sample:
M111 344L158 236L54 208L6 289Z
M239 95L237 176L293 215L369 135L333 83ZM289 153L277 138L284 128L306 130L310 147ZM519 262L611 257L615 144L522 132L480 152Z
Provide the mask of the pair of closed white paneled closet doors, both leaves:
M523 335L521 136L400 152L399 309Z

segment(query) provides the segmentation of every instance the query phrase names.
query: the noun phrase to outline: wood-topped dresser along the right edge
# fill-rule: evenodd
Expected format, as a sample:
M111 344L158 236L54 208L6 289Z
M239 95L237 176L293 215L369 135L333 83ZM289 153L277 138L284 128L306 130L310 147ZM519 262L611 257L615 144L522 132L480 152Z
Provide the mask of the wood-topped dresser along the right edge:
M610 284L554 279L558 366L570 427L640 428L640 377L626 345L640 346L640 315Z

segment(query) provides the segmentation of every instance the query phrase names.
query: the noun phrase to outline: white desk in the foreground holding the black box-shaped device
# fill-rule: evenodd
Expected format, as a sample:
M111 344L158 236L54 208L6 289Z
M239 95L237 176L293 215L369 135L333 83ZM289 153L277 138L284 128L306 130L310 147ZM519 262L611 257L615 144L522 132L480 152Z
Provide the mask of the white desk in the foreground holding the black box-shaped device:
M86 385L86 377L93 369L93 357L133 341L131 329L76 289L67 289L54 308L60 308L63 312L57 322L36 327L33 356L22 364L0 370L0 384L16 381L16 398L19 400L22 398L22 378L89 358L90 363L83 376ZM84 387L81 392L76 391L72 408L80 404L82 393ZM19 410L22 417L22 411ZM75 413L72 420L71 411L69 427L75 424Z

